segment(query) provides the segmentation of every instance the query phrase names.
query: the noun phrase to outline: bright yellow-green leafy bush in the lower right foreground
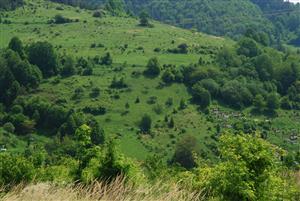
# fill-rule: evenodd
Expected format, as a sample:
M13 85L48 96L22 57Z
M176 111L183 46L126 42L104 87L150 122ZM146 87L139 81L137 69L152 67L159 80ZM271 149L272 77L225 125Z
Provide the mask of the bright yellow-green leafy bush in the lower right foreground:
M283 189L278 154L283 152L251 135L225 134L220 138L222 162L199 167L195 186L206 188L221 200L295 199L294 189Z

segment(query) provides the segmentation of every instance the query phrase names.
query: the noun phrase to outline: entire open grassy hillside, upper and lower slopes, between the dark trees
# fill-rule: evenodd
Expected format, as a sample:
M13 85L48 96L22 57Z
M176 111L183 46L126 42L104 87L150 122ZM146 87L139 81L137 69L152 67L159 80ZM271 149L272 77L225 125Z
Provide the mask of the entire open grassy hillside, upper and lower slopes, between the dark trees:
M58 10L62 7L63 10ZM56 14L71 19L79 19L64 25L53 25L47 22ZM53 103L64 99L66 106L81 110L85 106L101 105L107 108L105 115L97 116L97 120L104 128L107 137L119 139L121 150L128 156L143 160L151 153L163 155L169 159L173 154L176 143L185 135L195 136L198 140L200 152L207 158L213 158L216 141L216 125L221 124L223 131L231 130L230 125L242 118L252 119L254 123L273 121L273 135L268 139L288 150L297 150L297 142L290 142L289 137L295 128L300 128L298 112L281 112L279 117L270 119L265 116L252 116L250 109L234 111L214 103L217 113L208 116L198 111L195 105L189 104L184 110L178 110L181 99L189 101L191 96L183 84L160 87L161 78L149 79L132 76L141 73L149 58L157 57L161 65L197 63L199 58L211 62L212 54L199 54L198 49L216 51L224 45L232 46L229 39L208 36L202 33L183 30L180 28L153 22L154 28L138 26L138 20L129 17L93 18L91 11L78 10L73 7L45 3L43 1L27 1L27 6L13 12L3 13L11 24L0 24L0 47L8 45L11 37L18 36L25 44L34 41L49 41L60 54L94 57L110 52L114 65L95 66L93 76L72 76L55 82L55 77L46 80L40 88L30 96L43 96ZM173 42L172 42L173 41ZM102 44L104 47L91 48L91 44ZM168 48L175 48L181 43L187 43L191 49L189 54L170 54ZM125 46L128 46L124 49ZM161 48L161 52L154 52ZM125 64L124 64L125 63ZM123 66L116 71L116 67ZM111 90L109 86L113 77L123 77L128 89ZM72 100L74 90L84 88L80 100ZM93 87L101 89L98 98L89 96ZM116 98L118 97L118 98ZM135 103L139 97L140 103ZM154 104L149 99L156 97ZM173 100L173 105L167 106L167 99ZM127 108L125 107L125 105ZM161 111L157 112L156 108ZM219 108L219 109L216 109ZM153 120L153 135L138 134L138 121L143 114L149 114ZM221 117L220 117L221 115ZM165 116L173 117L175 128L169 128L165 123ZM226 118L225 118L226 117ZM229 126L228 126L229 125ZM296 131L298 132L298 131ZM39 136L39 135L38 135ZM0 135L1 137L1 135ZM37 137L38 141L50 139ZM24 142L19 149L25 147ZM13 147L11 150L16 151Z

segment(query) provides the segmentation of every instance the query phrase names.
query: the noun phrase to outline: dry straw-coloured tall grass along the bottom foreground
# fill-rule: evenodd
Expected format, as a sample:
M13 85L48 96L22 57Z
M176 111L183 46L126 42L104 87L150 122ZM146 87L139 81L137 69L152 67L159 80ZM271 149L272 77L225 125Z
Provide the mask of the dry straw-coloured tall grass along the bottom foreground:
M111 183L94 182L92 185L60 186L52 183L19 185L4 197L3 201L192 201L204 200L204 195L180 189L178 185L159 182L153 185L133 186L125 184L122 177Z

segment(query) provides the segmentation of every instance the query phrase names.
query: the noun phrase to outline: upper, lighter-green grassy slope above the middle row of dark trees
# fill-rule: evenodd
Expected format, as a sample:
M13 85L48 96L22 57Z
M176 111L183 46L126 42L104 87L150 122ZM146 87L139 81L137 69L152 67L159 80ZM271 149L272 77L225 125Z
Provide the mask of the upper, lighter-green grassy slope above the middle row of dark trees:
M157 54L153 50L162 51L174 48L180 43L188 43L196 49L221 47L225 40L205 34L193 33L179 28L155 23L155 29L145 29L138 26L133 18L105 17L92 18L92 12L65 6L60 11L58 4L43 1L29 3L25 9L8 13L11 24L1 24L2 47L7 46L12 36L18 36L25 43L37 40L47 40L57 46L61 52L80 56L101 55L104 52L113 54L116 63L144 65L149 57L158 56L162 63L189 64L199 59L197 53L189 55ZM37 9L34 9L37 7ZM79 19L78 23L51 25L47 22L56 14L63 14L71 19ZM172 41L175 43L172 44ZM91 44L103 44L103 48L90 48ZM230 43L230 42L229 42ZM122 50L125 45L128 48Z

